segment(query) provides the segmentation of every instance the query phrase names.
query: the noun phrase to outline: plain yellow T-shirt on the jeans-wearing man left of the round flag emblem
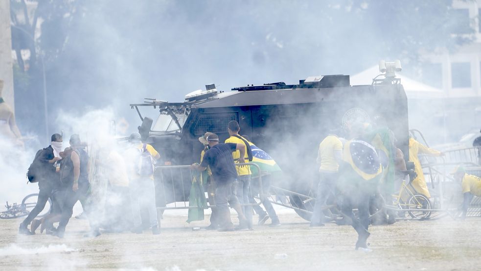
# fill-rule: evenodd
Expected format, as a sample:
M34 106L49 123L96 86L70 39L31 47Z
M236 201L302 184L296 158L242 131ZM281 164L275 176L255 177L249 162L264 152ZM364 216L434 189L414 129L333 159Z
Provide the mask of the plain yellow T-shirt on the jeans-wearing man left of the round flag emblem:
M335 150L343 150L343 143L335 135L328 135L319 144L318 162L321 162L320 172L338 172L339 164L334 157Z

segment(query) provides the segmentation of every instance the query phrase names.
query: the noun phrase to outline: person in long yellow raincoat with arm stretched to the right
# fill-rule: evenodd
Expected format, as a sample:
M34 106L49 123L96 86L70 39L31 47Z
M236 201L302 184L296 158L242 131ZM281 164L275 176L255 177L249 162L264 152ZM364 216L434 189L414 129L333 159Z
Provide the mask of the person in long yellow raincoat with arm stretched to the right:
M414 138L409 138L409 161L414 163L414 171L417 176L412 180L411 185L415 191L413 193L422 194L428 198L431 197L429 193L428 185L424 179L423 169L421 162L419 161L418 154L430 155L430 156L444 156L444 153L428 148L421 143L417 142Z

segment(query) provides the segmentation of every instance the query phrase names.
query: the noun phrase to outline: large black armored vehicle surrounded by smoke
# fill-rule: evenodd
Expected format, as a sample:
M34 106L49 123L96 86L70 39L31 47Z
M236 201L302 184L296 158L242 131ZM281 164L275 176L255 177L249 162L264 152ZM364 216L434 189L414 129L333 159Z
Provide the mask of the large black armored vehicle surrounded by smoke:
M157 120L143 118L140 106L158 109ZM298 84L276 82L231 91L219 91L212 84L205 91L190 93L183 102L147 100L131 107L142 120L138 129L143 140L160 152L164 165L199 162L204 147L198 138L208 131L218 134L223 142L229 137L227 124L237 121L241 134L280 166L282 175L272 185L292 192L286 196L306 219L309 215L302 210L311 208L312 197L307 204L308 200L296 195L315 191L318 146L333 130L344 130L353 121L372 123L381 118L394 132L397 147L409 157L408 104L399 79L351 86L349 75L325 75L308 77ZM186 174L169 173L159 178L164 182L158 186L163 187L161 191L156 191L159 207L187 200L191 180Z

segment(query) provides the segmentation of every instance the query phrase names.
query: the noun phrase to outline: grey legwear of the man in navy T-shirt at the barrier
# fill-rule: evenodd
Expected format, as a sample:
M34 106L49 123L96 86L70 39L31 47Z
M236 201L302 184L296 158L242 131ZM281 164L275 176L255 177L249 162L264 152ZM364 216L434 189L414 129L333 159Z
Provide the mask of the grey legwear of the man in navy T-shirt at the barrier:
M230 220L230 211L228 202L234 199L237 202L237 197L232 193L232 180L221 180L215 183L215 219L221 228L232 228L233 224Z

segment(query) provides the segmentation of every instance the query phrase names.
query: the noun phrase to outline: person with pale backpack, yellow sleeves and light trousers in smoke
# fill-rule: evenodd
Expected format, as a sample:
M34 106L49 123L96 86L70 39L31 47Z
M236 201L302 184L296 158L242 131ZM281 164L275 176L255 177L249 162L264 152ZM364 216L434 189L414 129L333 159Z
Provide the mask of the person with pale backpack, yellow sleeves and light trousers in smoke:
M139 133L132 133L129 139L132 148L127 152L130 163L130 192L135 233L142 233L140 208L147 209L152 234L160 234L159 220L155 201L154 172L155 161L160 154L149 144L142 144ZM128 158L127 158L128 159Z

